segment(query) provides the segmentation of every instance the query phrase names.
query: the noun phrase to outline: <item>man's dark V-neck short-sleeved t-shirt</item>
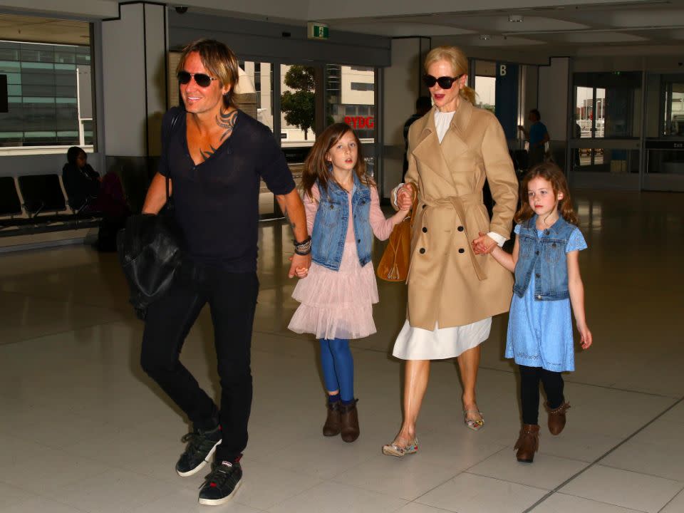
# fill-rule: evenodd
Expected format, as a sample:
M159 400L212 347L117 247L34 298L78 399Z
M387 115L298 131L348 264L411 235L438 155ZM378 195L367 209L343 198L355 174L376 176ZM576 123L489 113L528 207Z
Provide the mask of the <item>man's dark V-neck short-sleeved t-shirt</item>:
M175 214L190 258L232 272L256 271L259 179L275 195L294 189L271 130L238 110L232 135L195 165L187 147L185 110L172 108L162 121L159 172L172 180Z

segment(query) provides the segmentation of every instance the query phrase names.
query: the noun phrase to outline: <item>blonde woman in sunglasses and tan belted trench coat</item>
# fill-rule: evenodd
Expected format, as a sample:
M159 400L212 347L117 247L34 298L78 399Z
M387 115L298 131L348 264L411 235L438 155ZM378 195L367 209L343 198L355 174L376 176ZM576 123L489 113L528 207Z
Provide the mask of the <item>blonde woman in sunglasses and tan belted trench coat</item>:
M406 361L403 423L383 447L385 455L398 457L418 451L415 425L430 360L458 359L465 425L484 425L475 398L480 343L489 337L492 316L508 311L512 295L510 273L489 255L509 237L518 200L504 132L492 113L473 107L460 48L430 51L424 80L434 105L411 125L408 172L394 191L397 207L418 196L407 318L393 350ZM491 219L482 203L484 180L495 202ZM473 242L487 253L475 255Z

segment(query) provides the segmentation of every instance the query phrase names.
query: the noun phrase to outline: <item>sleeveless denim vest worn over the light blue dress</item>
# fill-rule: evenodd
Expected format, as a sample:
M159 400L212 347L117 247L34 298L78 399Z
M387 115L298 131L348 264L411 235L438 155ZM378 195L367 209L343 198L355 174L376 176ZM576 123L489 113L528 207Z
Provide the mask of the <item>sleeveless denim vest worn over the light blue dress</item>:
M520 225L519 254L513 291L522 297L534 272L534 300L556 301L570 297L565 249L575 226L559 217L537 237L537 215Z

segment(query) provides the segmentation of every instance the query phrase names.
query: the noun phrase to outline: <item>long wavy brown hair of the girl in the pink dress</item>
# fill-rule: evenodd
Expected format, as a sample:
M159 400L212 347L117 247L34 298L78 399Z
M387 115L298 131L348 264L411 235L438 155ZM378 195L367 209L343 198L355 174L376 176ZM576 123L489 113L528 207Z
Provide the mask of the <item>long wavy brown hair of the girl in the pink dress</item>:
M316 182L318 182L321 190L325 193L328 192L328 184L331 181L335 182L331 164L327 160L328 152L346 133L351 133L354 136L354 140L356 140L358 157L356 159L354 172L356 172L358 180L368 187L375 185L373 178L366 174L366 161L363 160L361 141L358 140L358 135L356 135L354 130L352 130L349 125L346 125L346 123L334 123L326 128L326 130L323 130L321 135L316 136L316 142L314 143L314 146L311 147L311 151L309 151L306 160L304 160L304 171L301 175L301 188L310 198L313 198L311 190L314 188L314 185L316 185Z

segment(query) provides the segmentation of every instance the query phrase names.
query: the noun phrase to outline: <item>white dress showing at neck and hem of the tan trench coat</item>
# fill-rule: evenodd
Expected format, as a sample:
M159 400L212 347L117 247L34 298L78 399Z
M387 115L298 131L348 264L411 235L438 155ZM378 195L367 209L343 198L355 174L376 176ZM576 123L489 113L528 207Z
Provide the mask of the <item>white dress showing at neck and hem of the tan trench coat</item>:
M453 112L435 112L435 126L437 137L442 142L449 129ZM429 331L414 328L404 321L397 340L394 343L392 355L402 360L443 360L454 358L461 353L480 345L489 338L492 328L492 318L483 318L465 326L440 328L435 323L435 329Z

